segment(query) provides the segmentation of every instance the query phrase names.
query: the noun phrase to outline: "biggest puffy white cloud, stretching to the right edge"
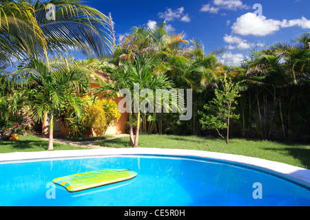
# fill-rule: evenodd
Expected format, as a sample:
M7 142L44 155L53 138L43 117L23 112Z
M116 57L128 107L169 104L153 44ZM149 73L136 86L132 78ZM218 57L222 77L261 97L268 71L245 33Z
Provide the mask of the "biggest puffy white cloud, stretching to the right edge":
M280 28L288 28L292 26L310 29L310 20L302 17L301 19L287 19L279 21L267 19L264 16L256 16L254 13L243 14L238 17L237 21L232 25L232 32L240 35L266 36L280 30Z

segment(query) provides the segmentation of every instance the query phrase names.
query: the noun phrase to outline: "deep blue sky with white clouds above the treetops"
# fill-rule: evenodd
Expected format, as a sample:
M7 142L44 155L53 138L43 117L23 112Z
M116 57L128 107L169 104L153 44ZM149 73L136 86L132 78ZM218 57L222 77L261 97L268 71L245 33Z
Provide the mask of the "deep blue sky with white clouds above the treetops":
M238 65L254 46L290 42L310 31L309 0L88 0L87 5L104 14L112 13L116 37L133 26L167 21L186 39L196 38L205 52L218 47L228 50L220 55L227 64ZM259 8L253 8L254 4Z

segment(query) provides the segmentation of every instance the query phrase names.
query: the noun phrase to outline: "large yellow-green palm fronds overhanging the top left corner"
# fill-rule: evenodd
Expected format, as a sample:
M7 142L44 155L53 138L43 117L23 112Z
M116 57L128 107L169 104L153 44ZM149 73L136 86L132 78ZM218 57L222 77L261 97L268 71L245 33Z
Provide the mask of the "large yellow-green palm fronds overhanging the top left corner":
M53 4L55 20L46 19ZM112 52L107 24L109 19L79 0L0 2L0 78L3 83L24 76L8 72L7 67L21 61L41 59L67 52L102 57ZM20 74L20 72L19 72Z

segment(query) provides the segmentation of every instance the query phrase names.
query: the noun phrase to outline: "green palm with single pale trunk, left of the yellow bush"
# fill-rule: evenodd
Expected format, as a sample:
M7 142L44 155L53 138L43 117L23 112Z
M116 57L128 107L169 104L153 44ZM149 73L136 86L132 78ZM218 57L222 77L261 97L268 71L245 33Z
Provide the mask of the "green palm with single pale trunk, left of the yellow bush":
M66 106L72 107L79 115L82 102L76 94L81 85L87 84L86 74L69 58L54 58L50 65L32 60L20 71L30 73L27 79L30 87L25 89L25 94L28 94L33 119L49 117L48 150L52 150L54 117L59 116Z

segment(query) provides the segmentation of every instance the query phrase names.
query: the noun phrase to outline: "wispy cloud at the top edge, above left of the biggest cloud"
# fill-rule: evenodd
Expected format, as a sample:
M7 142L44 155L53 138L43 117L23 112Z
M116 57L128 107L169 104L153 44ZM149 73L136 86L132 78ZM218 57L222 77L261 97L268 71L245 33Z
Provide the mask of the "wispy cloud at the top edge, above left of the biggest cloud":
M200 8L200 12L209 12L217 14L220 9L225 10L237 10L237 9L249 9L248 5L245 5L240 0L213 0L211 3L204 4Z

